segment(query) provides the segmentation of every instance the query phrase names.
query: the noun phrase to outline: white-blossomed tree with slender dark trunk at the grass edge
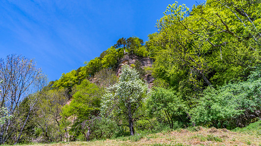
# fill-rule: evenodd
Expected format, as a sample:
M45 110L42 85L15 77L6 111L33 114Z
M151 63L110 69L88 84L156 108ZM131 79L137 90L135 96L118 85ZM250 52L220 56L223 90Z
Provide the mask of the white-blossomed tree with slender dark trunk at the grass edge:
M141 109L147 92L148 86L139 78L138 72L124 65L119 82L107 88L102 97L101 112L109 117L128 120L130 134L134 135L134 116Z

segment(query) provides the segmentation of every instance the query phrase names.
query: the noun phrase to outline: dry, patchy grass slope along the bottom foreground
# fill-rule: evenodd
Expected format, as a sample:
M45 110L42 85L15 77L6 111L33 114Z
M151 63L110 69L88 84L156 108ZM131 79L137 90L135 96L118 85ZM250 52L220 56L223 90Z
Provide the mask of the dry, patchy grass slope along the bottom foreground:
M216 128L190 128L145 136L112 140L35 144L32 146L261 146L261 121L233 131Z

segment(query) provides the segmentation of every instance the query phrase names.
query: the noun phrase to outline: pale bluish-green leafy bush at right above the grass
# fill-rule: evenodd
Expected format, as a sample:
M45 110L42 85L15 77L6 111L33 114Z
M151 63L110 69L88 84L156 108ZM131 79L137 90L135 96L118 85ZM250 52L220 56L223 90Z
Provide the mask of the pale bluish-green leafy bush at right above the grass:
M256 74L253 72L245 82L206 89L198 105L191 110L192 120L220 128L224 123L230 127L248 124L253 117L247 115L255 115L255 111L261 109L261 78L253 80ZM237 119L237 122L232 119Z

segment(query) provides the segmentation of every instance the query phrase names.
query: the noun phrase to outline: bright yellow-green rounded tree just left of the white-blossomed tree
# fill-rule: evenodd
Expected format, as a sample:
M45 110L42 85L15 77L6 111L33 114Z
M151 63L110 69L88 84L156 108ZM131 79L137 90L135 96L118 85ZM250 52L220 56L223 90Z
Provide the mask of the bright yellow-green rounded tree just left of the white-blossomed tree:
M90 133L96 130L93 122L94 117L99 116L103 91L87 79L77 85L74 90L71 103L63 107L62 116L67 119L75 116L71 125L72 136L75 138L81 132L84 134L84 139L89 141L92 136Z

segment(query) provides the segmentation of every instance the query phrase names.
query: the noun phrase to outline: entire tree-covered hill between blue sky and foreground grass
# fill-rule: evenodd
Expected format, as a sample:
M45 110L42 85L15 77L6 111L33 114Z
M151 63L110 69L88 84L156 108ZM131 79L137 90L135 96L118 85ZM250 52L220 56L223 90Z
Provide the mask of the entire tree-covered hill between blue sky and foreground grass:
M0 144L234 129L260 120L260 0L206 0L192 10L175 2L156 27L148 41L119 38L48 85L33 60L1 59Z

